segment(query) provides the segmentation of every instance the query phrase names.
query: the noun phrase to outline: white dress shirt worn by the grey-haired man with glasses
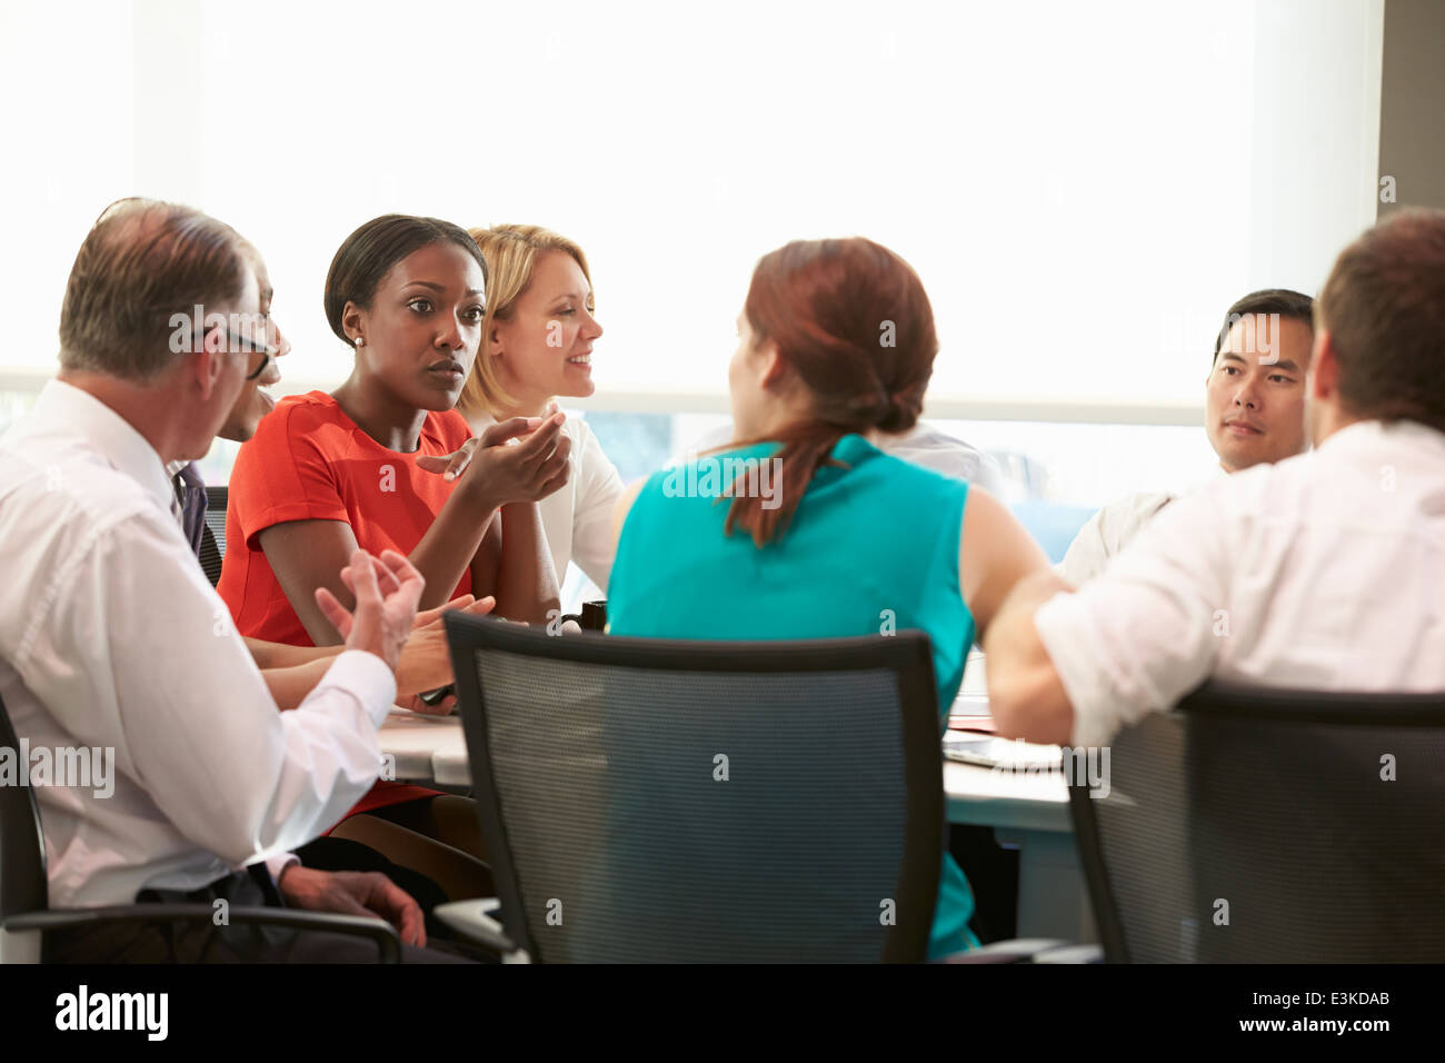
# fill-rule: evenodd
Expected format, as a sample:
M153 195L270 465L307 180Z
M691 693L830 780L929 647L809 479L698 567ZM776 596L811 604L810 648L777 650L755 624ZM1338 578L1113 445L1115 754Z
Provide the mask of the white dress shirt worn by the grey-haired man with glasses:
M275 874L377 778L390 670L342 652L279 712L173 503L144 437L59 380L0 437L0 697L30 749L113 751L110 795L36 787L52 907Z

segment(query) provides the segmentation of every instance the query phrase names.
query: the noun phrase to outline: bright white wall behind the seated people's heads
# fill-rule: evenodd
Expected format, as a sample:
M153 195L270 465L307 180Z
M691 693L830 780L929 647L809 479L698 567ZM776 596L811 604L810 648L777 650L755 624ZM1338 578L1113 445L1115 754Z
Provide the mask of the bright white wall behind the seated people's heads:
M344 375L327 266L403 210L579 240L629 402L721 395L757 256L861 233L933 298L935 406L1186 422L1224 308L1373 218L1379 0L4 12L0 369L53 364L85 227L144 192L263 250L292 380Z

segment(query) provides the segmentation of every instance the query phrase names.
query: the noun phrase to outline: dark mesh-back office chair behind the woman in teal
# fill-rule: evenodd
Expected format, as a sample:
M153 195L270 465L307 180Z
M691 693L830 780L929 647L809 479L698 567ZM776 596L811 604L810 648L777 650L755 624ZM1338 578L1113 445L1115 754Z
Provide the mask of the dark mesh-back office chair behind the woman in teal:
M926 635L686 642L445 622L500 892L500 926L481 920L493 947L923 959L945 827Z

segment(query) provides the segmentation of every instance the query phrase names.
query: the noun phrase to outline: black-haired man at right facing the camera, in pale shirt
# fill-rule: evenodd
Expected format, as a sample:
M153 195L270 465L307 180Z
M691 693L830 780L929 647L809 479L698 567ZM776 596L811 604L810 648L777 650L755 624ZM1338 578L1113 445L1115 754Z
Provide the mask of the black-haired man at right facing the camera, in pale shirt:
M1224 315L1205 379L1204 430L1218 474L1302 453L1305 372L1314 343L1314 299L1285 288L1250 292ZM1056 570L1074 584L1104 571L1178 495L1139 492L1100 509L1074 537Z

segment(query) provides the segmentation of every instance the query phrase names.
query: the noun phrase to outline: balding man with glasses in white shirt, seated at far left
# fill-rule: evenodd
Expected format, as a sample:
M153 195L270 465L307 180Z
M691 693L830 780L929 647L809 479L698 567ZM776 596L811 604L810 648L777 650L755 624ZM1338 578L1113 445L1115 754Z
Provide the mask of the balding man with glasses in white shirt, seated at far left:
M292 905L380 914L420 944L420 911L384 876L301 868L288 852L377 778L376 730L394 700L419 576L399 555L357 551L347 570L355 610L324 602L348 648L299 709L280 713L195 564L166 476L168 463L207 453L263 341L247 328L259 321L253 255L199 211L107 210L71 272L59 376L0 437L0 697L32 759L98 749L114 767L110 793L36 787L49 904L207 889L262 902L275 897L246 892L237 869L264 861ZM201 334L178 337L173 315L198 305ZM153 959L159 937L97 931L88 947L85 933L68 933L45 944L52 957ZM354 943L332 944L341 956Z

